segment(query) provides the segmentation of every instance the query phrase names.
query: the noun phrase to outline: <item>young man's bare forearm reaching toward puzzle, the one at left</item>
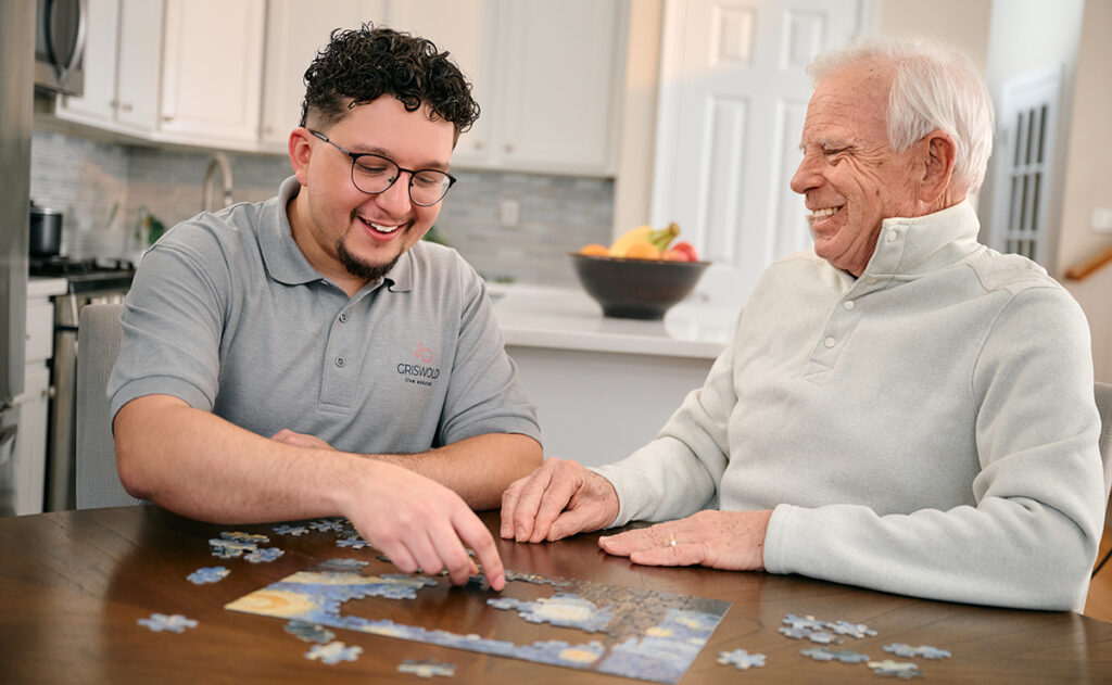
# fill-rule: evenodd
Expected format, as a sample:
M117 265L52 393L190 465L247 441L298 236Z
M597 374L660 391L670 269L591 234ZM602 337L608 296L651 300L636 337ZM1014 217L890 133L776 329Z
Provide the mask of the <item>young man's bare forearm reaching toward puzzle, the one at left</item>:
M132 400L113 426L125 488L203 520L337 515L346 493L375 477L353 455L284 445L169 396Z

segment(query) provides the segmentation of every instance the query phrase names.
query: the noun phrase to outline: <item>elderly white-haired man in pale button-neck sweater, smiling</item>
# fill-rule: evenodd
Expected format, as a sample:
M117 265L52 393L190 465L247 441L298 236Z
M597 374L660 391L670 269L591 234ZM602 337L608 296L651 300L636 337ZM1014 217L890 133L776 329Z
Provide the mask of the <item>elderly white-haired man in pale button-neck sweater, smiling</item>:
M1103 512L1088 326L1042 268L976 241L983 82L910 41L838 50L810 73L792 189L814 251L764 272L655 440L515 482L503 537L668 522L599 544L637 564L1081 606Z

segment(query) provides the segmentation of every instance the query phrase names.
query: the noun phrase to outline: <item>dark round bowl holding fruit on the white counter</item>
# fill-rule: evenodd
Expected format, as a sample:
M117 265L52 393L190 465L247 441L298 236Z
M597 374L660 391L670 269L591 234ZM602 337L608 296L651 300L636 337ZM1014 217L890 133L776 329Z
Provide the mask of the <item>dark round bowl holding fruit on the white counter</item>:
M626 319L663 319L711 266L709 261L569 255L583 289L602 305L603 314Z

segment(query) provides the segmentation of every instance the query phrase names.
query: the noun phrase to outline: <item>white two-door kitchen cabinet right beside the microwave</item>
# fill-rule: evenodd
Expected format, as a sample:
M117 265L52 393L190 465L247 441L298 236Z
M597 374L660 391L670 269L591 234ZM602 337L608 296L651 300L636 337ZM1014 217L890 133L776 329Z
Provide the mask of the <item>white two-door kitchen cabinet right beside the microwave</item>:
M60 119L150 136L158 125L162 3L89 0L85 95L60 96Z

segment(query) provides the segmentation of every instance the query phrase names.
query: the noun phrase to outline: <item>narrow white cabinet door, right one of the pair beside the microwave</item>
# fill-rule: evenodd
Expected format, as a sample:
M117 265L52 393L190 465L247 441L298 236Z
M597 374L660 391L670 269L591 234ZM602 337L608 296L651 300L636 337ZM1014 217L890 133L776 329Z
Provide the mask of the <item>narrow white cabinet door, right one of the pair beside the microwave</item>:
M158 81L162 66L162 3L122 0L116 121L149 135L158 123Z

